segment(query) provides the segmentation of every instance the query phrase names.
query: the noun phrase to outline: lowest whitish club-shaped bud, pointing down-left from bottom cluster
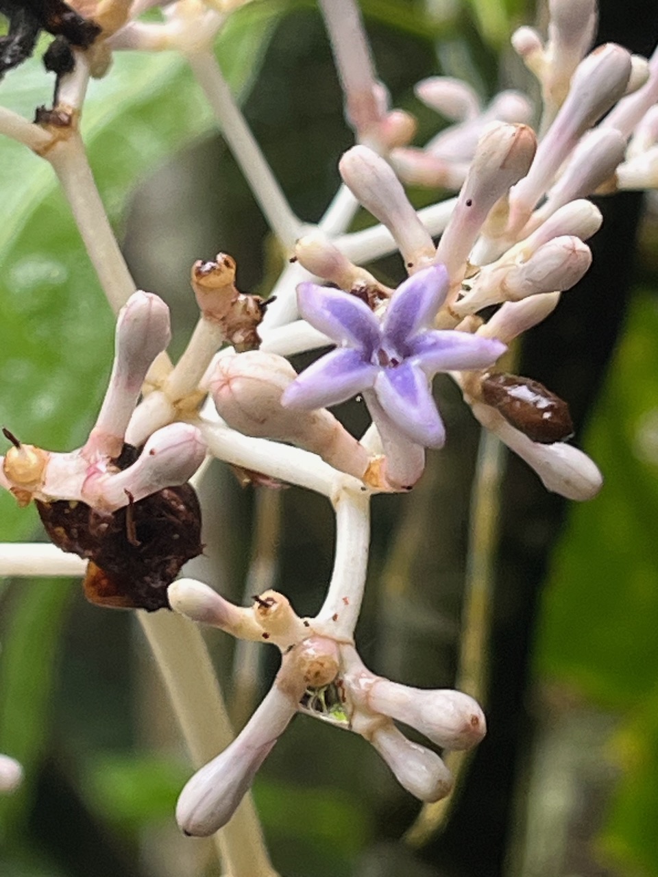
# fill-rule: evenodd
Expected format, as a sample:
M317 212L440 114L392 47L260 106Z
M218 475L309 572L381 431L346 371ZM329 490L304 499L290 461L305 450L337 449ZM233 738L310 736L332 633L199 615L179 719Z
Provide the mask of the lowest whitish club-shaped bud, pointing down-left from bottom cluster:
M303 693L302 687L291 698L275 684L232 744L188 781L176 805L176 821L185 834L204 838L229 821Z

